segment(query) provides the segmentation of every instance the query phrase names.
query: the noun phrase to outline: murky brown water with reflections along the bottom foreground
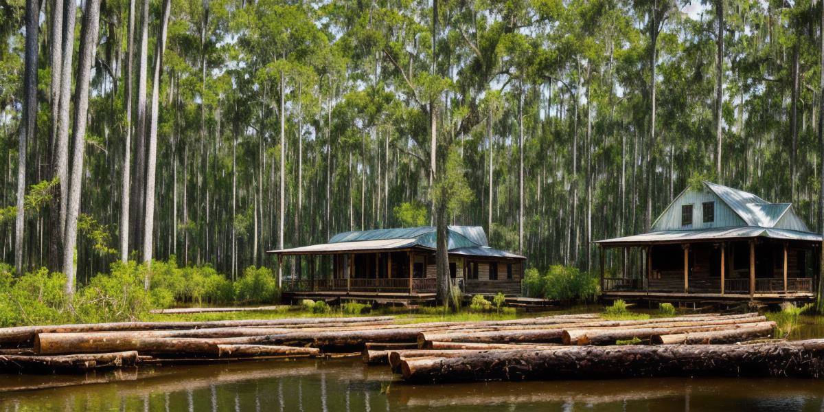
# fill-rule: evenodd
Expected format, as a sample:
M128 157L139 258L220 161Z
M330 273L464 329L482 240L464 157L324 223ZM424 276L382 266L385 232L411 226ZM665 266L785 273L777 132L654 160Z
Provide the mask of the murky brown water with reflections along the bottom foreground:
M626 379L412 386L358 359L141 368L88 377L0 375L0 411L809 410L824 381ZM110 383L95 383L105 379ZM69 385L7 391L49 382ZM77 383L87 382L84 385Z

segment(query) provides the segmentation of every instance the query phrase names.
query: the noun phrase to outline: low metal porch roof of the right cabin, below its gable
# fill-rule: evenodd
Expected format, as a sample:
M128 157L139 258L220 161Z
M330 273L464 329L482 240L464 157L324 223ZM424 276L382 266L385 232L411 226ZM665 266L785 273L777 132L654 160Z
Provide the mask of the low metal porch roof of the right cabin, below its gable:
M681 243L689 241L714 241L763 237L788 241L822 241L822 236L812 232L798 232L788 229L767 227L721 227L717 229L659 231L641 235L616 237L595 241L602 245L641 245L648 243Z

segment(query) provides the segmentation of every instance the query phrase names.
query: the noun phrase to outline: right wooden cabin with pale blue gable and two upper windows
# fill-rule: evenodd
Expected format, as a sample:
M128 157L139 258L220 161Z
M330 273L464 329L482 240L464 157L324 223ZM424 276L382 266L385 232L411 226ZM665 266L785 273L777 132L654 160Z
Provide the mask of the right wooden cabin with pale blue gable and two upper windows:
M792 204L703 182L681 192L650 232L595 243L606 299L776 303L814 299L822 236ZM624 256L634 248L643 263L628 273ZM607 253L614 249L622 253Z

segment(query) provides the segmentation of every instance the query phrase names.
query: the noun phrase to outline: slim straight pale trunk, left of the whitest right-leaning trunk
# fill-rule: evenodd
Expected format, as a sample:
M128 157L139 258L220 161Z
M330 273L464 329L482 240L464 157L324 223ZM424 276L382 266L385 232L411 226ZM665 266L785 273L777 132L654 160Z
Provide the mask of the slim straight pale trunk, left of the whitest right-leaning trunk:
M124 101L126 106L126 130L124 133L123 156L123 184L120 190L120 261L129 260L129 195L131 190L132 167L132 93L133 93L133 65L134 65L134 1L129 0L129 35L126 47L126 90ZM174 224L175 222L173 222ZM173 228L173 230L175 230Z

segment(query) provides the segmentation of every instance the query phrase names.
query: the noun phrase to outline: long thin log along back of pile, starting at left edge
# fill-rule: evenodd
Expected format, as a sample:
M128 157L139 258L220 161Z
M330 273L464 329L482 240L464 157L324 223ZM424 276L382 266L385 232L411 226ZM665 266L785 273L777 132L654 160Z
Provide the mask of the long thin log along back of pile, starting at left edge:
M115 330L173 330L173 329L200 329L218 327L241 326L282 326L282 325L311 325L322 323L392 321L395 316L371 317L307 317L284 318L269 320L240 320L240 321L187 321L187 322L112 322L91 323L77 325L45 325L45 326L15 326L0 329L0 345L32 344L35 335L41 333L67 332L99 332Z

